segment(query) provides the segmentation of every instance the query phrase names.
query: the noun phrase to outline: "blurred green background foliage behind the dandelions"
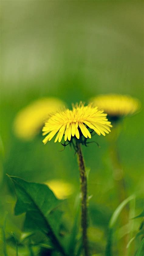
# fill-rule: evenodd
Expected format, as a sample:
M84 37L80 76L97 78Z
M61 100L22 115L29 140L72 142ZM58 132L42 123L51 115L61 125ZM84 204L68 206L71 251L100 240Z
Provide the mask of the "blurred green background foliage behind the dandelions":
M31 142L17 139L13 121L17 112L35 99L56 96L70 107L99 93L130 94L143 102L143 2L142 1L1 1L1 163L0 218L8 212L5 239L10 255L23 229L24 215L14 216L15 194L6 178L19 176L31 182L65 179L75 187L63 205L66 226L74 222L74 201L79 190L79 173L74 151L65 151L53 140L42 143L42 134ZM89 238L94 255L105 255L108 222L119 202L112 176L108 140L95 136L101 146L83 148L91 169L88 190ZM143 194L143 108L126 117L118 138L118 150L127 196L136 195L133 217L142 212ZM129 240L139 230L142 218L133 220ZM118 218L113 241L119 255ZM1 235L2 238L2 235ZM36 241L36 237L35 237ZM137 237L129 256L140 246ZM27 245L26 245L27 248ZM19 245L19 256L28 255ZM22 251L22 252L21 252ZM34 255L41 251L35 246ZM3 242L0 243L0 254ZM30 252L29 252L30 253ZM30 255L30 254L29 254ZM32 255L32 254L31 254ZM44 255L44 254L43 254ZM5 255L6 256L6 255Z

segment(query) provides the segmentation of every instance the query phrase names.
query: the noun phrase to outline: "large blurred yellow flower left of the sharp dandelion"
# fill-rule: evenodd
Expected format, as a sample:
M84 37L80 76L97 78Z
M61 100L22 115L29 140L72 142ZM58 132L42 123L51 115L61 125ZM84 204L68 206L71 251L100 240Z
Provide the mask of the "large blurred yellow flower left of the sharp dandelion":
M57 98L42 98L33 101L20 110L15 117L15 135L25 140L33 139L40 132L49 114L63 105L64 103Z

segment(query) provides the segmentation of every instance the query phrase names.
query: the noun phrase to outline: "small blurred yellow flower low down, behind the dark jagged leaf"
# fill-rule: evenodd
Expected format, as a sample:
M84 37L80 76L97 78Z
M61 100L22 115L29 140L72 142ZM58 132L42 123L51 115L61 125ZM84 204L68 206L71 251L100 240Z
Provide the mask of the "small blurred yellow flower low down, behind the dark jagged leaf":
M74 192L72 184L63 180L51 180L45 183L58 199L66 199Z

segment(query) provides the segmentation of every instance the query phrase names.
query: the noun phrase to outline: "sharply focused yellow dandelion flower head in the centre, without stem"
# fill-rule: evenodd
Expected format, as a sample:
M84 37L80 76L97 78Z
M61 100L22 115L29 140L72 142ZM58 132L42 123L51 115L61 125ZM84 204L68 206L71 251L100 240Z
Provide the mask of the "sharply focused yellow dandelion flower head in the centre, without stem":
M72 137L77 139L83 135L85 138L91 139L91 132L94 131L98 135L104 135L110 132L112 127L108 121L107 114L93 107L92 104L84 106L83 103L73 105L73 109L65 109L61 112L52 114L43 127L43 135L48 134L43 143L50 141L56 134L54 142L61 142L63 135L65 141L70 141Z

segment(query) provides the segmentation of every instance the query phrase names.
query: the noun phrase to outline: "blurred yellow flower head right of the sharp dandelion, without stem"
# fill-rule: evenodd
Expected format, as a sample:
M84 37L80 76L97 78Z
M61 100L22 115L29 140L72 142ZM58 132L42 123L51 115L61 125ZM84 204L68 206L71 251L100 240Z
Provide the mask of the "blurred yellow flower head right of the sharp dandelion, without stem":
M111 117L122 117L134 114L140 107L138 99L120 94L99 95L91 101Z

